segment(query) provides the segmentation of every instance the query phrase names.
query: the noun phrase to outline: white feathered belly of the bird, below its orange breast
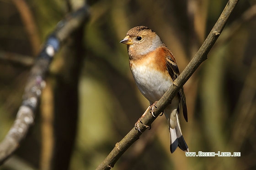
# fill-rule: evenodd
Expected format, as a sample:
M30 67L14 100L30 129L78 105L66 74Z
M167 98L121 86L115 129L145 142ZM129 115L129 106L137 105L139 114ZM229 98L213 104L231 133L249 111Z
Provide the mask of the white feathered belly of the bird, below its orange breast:
M131 68L134 80L150 103L159 100L171 86L171 77L151 69L148 65Z

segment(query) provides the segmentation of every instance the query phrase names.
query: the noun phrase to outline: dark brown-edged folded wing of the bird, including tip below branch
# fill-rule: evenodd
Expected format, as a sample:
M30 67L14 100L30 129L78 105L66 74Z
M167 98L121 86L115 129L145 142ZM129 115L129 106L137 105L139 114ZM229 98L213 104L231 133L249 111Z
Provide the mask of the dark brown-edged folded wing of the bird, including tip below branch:
M165 48L167 48L167 47L165 47ZM173 57L173 54L171 53L171 51L169 49L166 51L168 52L168 55L166 56L167 71L169 72L172 80L174 81L180 74L179 68L176 64L176 60ZM179 90L179 95L181 97L183 116L184 116L185 120L187 121L187 104L186 104L186 97L185 97L183 87Z

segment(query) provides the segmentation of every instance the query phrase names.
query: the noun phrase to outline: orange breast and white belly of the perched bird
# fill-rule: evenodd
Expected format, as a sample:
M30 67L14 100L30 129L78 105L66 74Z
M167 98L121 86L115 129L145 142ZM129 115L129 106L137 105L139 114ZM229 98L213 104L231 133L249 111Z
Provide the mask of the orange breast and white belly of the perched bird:
M163 54L164 50L158 48L140 59L130 60L134 80L150 103L159 100L172 84Z

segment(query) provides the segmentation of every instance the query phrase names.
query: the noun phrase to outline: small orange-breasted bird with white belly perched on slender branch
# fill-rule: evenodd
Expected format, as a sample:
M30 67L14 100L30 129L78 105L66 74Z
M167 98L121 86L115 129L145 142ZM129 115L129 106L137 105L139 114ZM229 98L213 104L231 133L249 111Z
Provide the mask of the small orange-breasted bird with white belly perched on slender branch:
M149 106L154 108L155 102L164 95L180 74L175 57L156 32L147 26L133 27L120 43L127 45L130 69L139 91L149 100ZM189 152L181 132L181 105L187 122L187 104L183 87L164 109L170 132L171 153L177 147ZM152 114L154 116L153 112Z

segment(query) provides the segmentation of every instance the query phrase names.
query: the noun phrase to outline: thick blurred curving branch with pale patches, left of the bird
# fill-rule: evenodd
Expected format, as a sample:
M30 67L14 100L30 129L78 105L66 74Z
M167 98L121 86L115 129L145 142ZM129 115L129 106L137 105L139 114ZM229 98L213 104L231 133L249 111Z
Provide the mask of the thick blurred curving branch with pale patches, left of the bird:
M28 77L16 120L8 134L6 134L5 139L0 143L0 165L19 147L21 140L26 137L29 128L34 123L35 111L42 89L45 86L44 78L54 54L58 52L61 44L70 34L85 23L85 19L88 16L88 7L83 6L60 21L56 29L48 37Z

